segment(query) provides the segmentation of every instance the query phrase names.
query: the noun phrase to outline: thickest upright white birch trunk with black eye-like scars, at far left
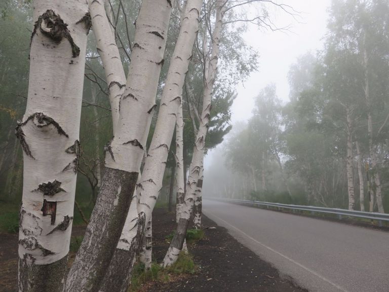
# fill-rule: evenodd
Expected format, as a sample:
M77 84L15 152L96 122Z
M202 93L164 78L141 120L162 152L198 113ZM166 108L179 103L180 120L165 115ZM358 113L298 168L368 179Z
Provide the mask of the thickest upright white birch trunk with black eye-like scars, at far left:
M36 0L26 112L19 291L62 291L67 271L90 16L78 0Z

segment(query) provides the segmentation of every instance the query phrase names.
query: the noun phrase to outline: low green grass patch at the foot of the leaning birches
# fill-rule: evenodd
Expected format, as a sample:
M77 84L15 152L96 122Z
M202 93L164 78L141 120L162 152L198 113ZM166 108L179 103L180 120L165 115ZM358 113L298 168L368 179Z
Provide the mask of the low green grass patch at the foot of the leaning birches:
M194 274L196 271L197 266L193 262L192 256L190 254L185 254L184 252L180 253L177 261L173 265L165 269L156 263L152 263L151 269L145 271L144 264L138 263L134 266L131 286L128 289L128 292L136 292L143 284L151 281L166 283L170 281L171 275Z

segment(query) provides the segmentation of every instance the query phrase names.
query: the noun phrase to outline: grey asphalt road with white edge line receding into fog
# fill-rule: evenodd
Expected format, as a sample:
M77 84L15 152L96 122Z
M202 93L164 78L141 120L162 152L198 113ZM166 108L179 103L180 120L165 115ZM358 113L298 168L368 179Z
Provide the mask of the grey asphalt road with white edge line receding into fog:
M205 198L203 212L311 292L389 292L389 232Z

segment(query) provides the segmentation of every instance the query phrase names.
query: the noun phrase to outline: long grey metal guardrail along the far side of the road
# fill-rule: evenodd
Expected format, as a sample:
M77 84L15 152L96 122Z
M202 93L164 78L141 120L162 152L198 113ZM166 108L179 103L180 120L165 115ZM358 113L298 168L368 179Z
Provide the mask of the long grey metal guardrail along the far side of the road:
M211 199L211 198L209 198L209 199ZM352 210L338 209L338 208L288 205L288 204L259 202L259 201L246 201L246 200L234 200L234 199L225 199L225 198L212 198L212 199L218 200L218 201L230 202L230 203L251 205L251 206L266 206L268 209L269 209L269 207L277 207L279 210L281 208L291 209L291 210L293 210L293 212L295 212L297 210L297 211L311 211L313 214L315 212L336 214L336 215L338 215L339 220L341 220L342 215L352 216L352 217L357 217L357 218L365 218L365 219L377 220L378 225L380 227L382 227L382 221L389 222L389 214L385 214L385 213L362 212L362 211L352 211Z

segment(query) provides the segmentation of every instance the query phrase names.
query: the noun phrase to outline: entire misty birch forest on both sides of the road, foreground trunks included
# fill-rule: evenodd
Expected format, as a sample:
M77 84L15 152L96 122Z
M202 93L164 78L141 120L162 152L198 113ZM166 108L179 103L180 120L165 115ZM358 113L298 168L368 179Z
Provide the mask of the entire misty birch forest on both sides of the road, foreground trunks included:
M233 125L261 62L244 34L288 33L276 15L302 21L292 1L1 1L0 233L19 234L18 291L129 291L138 262L157 266L154 208L175 214L169 268L203 233L203 196L388 212L388 1L333 0L289 96L268 84Z

